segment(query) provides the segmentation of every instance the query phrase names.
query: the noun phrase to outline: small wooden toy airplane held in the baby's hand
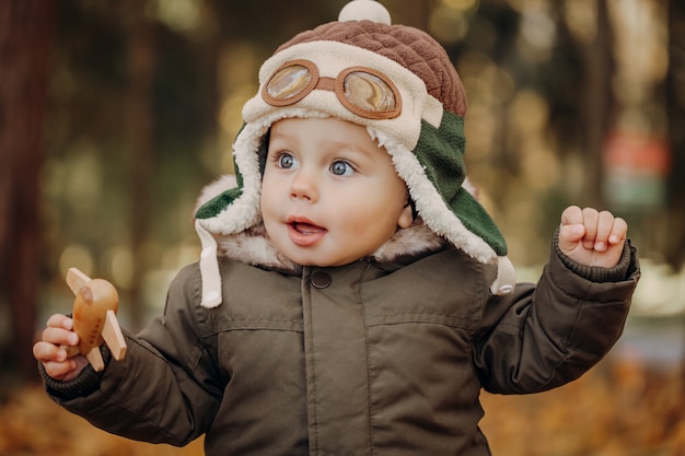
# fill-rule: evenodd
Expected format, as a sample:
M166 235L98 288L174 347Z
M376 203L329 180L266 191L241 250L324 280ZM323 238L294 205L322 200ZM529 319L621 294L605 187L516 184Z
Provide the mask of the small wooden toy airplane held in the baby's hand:
M126 341L116 319L119 296L112 283L91 279L77 268L67 272L67 284L76 295L73 300L73 330L79 335L79 352L91 363L95 372L105 369L100 353L103 340L115 360L126 355Z

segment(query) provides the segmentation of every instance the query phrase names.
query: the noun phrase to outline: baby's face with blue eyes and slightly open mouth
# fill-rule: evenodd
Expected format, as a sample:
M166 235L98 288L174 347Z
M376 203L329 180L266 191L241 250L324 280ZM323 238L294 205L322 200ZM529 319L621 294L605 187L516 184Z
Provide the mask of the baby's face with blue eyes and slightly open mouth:
M341 266L411 224L405 183L364 127L335 118L271 126L262 184L264 225L304 266Z

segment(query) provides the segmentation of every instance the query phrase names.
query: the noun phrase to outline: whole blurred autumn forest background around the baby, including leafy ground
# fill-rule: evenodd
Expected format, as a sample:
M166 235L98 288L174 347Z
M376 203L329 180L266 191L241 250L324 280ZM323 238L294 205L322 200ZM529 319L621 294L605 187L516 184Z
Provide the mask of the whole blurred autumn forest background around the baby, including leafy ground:
M0 2L0 455L201 454L68 416L31 347L71 308L69 267L117 287L128 328L162 312L198 258L195 199L231 173L259 65L346 2ZM469 175L520 280L536 280L569 203L624 217L640 249L626 335L600 366L557 391L485 395L495 454L685 454L685 3L382 3L462 77Z

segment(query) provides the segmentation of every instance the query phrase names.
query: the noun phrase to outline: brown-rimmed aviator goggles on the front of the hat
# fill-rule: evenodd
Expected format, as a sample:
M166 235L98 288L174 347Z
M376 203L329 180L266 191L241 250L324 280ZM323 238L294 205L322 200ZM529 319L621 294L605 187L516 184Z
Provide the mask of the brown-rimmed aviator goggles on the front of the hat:
M271 106L290 106L315 89L334 92L342 106L367 119L393 119L402 113L399 91L382 72L351 67L327 78L304 59L281 65L264 84L262 97Z

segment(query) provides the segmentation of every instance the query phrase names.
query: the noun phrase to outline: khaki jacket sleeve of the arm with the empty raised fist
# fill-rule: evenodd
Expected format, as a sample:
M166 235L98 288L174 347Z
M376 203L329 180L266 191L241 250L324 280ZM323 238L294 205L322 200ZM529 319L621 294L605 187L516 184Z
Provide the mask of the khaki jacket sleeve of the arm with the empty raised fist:
M486 305L474 352L484 388L537 393L580 377L620 337L639 277L629 243L616 267L590 268L565 257L555 236L537 285Z

